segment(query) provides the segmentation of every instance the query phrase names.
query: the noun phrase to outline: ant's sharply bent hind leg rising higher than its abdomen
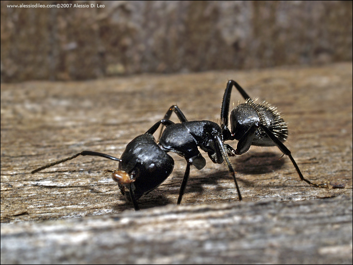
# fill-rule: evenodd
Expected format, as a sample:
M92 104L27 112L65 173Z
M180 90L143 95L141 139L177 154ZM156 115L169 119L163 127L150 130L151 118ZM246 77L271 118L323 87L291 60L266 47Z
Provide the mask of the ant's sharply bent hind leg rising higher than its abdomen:
M228 129L228 115L229 115L229 104L230 104L230 94L233 85L239 91L239 93L243 96L245 100L250 99L250 96L244 91L244 89L234 80L229 80L227 82L227 87L225 93L223 95L222 107L221 107L221 128L223 131L224 140L234 140L232 138L231 133Z

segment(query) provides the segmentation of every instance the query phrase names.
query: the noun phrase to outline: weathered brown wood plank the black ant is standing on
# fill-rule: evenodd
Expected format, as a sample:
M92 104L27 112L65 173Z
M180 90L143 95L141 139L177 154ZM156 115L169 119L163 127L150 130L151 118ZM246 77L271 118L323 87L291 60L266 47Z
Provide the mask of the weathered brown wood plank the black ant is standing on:
M116 183L103 175L104 169L117 166L114 161L81 157L34 175L29 172L82 150L119 157L133 137L149 129L173 104L190 120L217 121L228 78L238 80L251 96L278 106L288 122L286 144L307 179L346 185L346 189L331 190L310 187L299 181L289 159L279 159L277 148L252 147L231 159L244 200L352 194L352 64L27 82L1 85L1 221L130 209ZM237 93L232 99L242 101ZM174 173L141 198L142 208L176 203L185 162L173 157ZM183 203L237 200L227 168L205 157L204 169L191 170Z

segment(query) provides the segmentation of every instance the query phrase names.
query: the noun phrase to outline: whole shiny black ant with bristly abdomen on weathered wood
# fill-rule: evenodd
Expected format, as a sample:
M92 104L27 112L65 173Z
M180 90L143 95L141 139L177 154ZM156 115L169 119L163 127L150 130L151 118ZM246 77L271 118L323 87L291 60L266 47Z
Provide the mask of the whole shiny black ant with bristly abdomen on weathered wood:
M232 109L230 114L231 131L229 131L228 111L233 85L246 102ZM180 123L169 120L173 111ZM152 134L161 124L166 126L166 129L161 131L157 143ZM327 183L315 184L303 177L291 152L282 143L286 140L287 135L287 125L275 107L269 104L255 103L237 82L229 80L222 102L221 126L207 120L187 121L178 106L174 105L168 109L164 119L158 121L146 133L137 136L128 143L120 159L99 152L82 151L72 157L37 168L31 173L75 159L78 156L98 156L119 161L116 170L105 170L105 173L112 173L112 178L118 182L121 193L126 195L127 199L133 203L135 210L139 210L137 200L162 184L172 173L174 160L167 153L173 152L182 156L187 162L177 200L177 204L180 204L189 178L190 166L194 165L200 170L206 164L206 160L198 149L200 147L214 163L225 162L227 164L239 200L242 200L235 178L235 171L228 156L244 154L250 149L251 145L257 145L277 146L283 155L290 158L302 181L317 187L328 187ZM238 140L235 150L224 143L224 141L234 139Z

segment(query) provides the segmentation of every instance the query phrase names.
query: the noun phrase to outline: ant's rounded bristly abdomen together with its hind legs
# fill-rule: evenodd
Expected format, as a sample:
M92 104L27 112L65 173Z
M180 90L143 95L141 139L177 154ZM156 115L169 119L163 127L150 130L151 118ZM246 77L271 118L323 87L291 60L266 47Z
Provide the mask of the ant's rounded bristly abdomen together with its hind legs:
M233 85L245 99L244 104L234 107L230 113L230 131L228 129L228 112L230 94ZM288 136L288 128L276 107L268 103L257 104L244 89L234 80L227 82L221 107L221 128L223 140L238 140L235 155L242 155L255 146L277 146L279 150L292 161L299 177L309 185L328 188L328 183L316 184L303 177L291 152L283 144Z

